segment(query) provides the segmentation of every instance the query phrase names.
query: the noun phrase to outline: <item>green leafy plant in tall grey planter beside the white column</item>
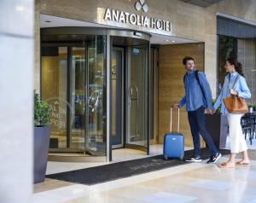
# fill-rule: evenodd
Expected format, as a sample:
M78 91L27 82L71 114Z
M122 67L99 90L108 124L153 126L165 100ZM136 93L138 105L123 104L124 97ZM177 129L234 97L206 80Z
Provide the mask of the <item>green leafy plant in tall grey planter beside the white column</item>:
M34 183L44 182L49 150L49 104L34 91Z

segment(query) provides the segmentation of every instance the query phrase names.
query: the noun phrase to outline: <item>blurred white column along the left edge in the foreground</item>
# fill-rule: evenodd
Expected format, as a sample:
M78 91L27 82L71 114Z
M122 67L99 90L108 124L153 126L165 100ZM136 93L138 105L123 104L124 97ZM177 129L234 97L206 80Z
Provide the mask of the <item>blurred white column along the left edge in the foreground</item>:
M0 202L32 199L33 0L0 6Z

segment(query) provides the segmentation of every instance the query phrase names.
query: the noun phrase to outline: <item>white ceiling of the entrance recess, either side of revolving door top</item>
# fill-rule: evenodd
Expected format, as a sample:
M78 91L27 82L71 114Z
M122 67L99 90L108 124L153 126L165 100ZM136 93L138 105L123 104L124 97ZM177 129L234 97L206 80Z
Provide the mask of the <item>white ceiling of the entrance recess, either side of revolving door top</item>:
M58 27L58 26L88 26L88 27L105 27L119 29L119 27L114 26L104 26L101 24L84 22L80 20L65 19L56 16L51 16L47 14L40 14L40 27ZM198 43L197 41L186 39L186 38L176 38L173 36L160 35L150 33L150 44L188 44L188 43Z

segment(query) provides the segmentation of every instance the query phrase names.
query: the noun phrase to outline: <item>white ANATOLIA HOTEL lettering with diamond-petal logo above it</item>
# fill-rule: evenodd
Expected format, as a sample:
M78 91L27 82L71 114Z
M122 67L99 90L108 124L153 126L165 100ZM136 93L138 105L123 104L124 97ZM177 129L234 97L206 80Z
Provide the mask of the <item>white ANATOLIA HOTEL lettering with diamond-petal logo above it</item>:
M172 22L168 20L160 20L157 18L148 17L148 4L144 0L138 0L135 3L137 11L143 11L143 14L133 14L119 9L102 9L103 24L111 26L121 26L131 29L151 31L156 33L165 32L167 35L172 35Z

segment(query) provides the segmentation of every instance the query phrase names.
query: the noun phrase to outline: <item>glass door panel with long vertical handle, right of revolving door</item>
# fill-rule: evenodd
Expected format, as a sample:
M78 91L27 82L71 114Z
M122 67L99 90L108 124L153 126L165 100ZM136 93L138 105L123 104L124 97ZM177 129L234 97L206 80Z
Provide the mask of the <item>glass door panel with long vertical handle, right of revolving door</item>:
M147 147L147 55L148 46L128 49L127 83L127 140L128 144Z

